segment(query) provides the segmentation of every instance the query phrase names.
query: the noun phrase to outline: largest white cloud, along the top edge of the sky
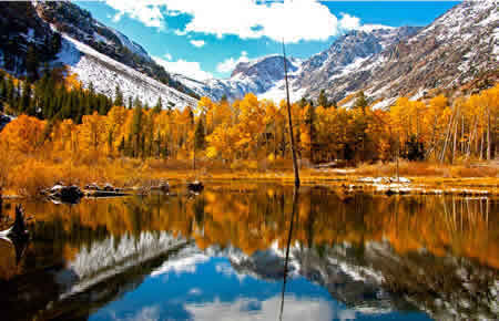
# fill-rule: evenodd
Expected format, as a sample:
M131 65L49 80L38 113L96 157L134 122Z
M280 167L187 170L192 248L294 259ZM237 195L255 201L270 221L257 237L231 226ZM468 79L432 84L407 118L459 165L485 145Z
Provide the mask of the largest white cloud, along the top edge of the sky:
M145 25L164 29L165 15L186 14L191 21L184 30L189 32L235 34L242 39L268 37L275 41L298 42L302 40L327 40L343 28L357 29L359 19L343 14L342 20L318 0L105 0L118 10L120 19L126 14ZM230 13L227 13L230 12ZM164 14L164 15L163 15Z

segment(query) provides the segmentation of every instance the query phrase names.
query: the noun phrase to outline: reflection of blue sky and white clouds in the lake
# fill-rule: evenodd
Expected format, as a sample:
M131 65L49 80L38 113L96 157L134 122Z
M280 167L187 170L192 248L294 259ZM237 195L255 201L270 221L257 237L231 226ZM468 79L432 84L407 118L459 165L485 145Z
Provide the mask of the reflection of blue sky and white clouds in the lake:
M237 273L226 258L165 262L134 291L100 309L90 320L278 320L282 280ZM428 320L421 313L361 313L335 301L303 277L286 284L283 320Z

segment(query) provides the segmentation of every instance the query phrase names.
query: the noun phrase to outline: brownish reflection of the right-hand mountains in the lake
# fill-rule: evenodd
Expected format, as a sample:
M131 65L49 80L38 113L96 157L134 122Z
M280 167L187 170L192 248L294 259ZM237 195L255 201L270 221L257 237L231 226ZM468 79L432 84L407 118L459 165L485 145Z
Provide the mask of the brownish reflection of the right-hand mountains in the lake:
M240 273L279 280L284 253L257 251L232 265ZM426 252L397 255L385 242L359 248L344 245L291 250L292 276L326 288L333 298L359 312L421 309L438 320L492 319L499 313L497 270L466 259Z

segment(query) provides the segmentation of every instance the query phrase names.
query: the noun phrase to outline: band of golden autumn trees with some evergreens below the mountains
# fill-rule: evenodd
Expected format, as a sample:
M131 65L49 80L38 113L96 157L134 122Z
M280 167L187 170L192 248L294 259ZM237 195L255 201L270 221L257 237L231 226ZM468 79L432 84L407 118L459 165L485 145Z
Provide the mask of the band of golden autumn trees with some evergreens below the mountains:
M322 95L292 105L298 156L312 163L492 159L499 85L469 97L400 97L373 108L359 93L349 108ZM230 103L202 97L197 106L147 106L83 89L75 75L45 72L34 83L0 75L0 101L19 115L0 133L6 152L92 157L275 162L291 159L285 103L253 94Z

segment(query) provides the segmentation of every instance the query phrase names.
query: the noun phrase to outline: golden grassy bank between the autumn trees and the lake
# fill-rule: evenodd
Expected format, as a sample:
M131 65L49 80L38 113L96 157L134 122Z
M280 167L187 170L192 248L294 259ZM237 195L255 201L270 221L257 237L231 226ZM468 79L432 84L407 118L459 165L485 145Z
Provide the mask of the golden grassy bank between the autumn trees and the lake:
M3 195L37 197L44 188L58 182L83 186L89 183L110 183L119 187L153 186L169 180L268 180L293 182L292 163L277 162L222 162L198 161L196 170L192 161L157 161L131 158L85 157L79 159L6 155L0 164L0 185ZM364 164L356 168L315 169L302 164L304 184L344 185L361 177L394 177L396 164ZM497 163L441 165L432 163L400 162L399 175L413 184L439 188L486 188L497 194L499 166Z

